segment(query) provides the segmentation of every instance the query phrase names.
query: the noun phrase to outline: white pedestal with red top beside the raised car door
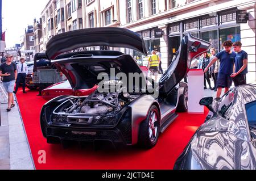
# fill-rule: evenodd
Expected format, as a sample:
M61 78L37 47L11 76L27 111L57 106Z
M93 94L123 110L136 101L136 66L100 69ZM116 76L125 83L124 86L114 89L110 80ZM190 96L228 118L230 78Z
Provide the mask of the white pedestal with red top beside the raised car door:
M204 106L199 104L203 97L203 69L190 69L188 72L188 113L204 113Z

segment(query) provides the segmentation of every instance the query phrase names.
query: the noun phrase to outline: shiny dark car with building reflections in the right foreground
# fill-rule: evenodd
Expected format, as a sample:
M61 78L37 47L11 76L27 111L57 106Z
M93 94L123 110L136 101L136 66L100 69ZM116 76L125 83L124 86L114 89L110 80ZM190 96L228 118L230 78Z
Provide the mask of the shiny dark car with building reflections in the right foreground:
M209 108L174 169L256 169L256 85L234 87Z

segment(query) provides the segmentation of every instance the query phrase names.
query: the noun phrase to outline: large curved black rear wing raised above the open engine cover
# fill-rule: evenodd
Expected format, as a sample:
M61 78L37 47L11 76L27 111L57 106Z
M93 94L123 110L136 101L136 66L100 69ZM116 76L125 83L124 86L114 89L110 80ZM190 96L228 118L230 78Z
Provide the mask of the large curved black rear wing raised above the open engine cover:
M113 27L85 28L55 35L47 43L46 55L53 60L61 53L94 46L130 48L147 55L144 41L138 33Z

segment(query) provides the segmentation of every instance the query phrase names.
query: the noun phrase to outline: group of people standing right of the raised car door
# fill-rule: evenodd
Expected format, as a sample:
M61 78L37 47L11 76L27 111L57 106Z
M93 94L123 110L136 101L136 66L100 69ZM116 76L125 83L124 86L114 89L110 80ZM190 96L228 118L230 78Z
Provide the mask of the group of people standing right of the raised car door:
M222 89L225 93L229 91L232 82L234 86L246 84L247 74L247 53L242 50L240 41L224 41L222 44L224 50L216 54L216 49L210 49L210 55L205 52L199 60L191 62L192 69L203 69L204 71L204 89L207 89L207 83L210 90L217 91L216 99L220 99ZM233 50L232 50L233 47ZM210 78L213 79L214 86L210 84Z

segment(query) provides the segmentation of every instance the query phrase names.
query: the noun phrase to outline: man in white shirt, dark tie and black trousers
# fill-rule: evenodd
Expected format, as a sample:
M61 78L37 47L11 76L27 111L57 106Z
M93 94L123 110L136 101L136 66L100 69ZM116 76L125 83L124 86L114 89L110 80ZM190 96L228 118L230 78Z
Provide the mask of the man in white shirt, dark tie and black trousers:
M26 81L26 76L27 76L27 73L28 73L27 64L25 64L24 58L20 58L19 61L20 62L17 65L18 76L17 76L17 79L16 79L16 87L15 87L15 91L13 91L14 94L16 94L16 92L18 91L20 82L22 82L23 93L27 93L25 91L25 84L26 84L25 81Z

